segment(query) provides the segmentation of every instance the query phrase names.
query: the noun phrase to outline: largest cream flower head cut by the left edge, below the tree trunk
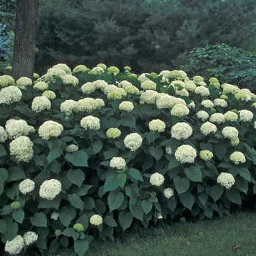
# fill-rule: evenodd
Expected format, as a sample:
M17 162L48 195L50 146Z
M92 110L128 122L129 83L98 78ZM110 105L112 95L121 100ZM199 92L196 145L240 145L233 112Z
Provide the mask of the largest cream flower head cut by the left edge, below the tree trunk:
M16 86L8 86L0 91L0 104L10 105L13 102L19 102L22 92Z

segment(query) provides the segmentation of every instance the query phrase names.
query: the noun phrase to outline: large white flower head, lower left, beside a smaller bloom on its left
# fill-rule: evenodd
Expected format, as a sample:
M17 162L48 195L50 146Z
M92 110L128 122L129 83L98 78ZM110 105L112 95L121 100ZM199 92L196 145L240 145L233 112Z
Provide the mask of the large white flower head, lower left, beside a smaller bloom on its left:
M61 192L61 183L56 179L44 181L39 189L39 196L47 200L53 200Z

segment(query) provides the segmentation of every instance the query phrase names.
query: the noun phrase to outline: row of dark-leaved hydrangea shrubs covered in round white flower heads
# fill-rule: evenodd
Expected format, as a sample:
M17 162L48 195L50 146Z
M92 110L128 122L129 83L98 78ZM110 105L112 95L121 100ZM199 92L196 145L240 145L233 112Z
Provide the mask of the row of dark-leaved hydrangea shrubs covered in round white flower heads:
M181 70L57 64L0 77L0 237L18 254L158 219L229 214L256 192L256 96Z

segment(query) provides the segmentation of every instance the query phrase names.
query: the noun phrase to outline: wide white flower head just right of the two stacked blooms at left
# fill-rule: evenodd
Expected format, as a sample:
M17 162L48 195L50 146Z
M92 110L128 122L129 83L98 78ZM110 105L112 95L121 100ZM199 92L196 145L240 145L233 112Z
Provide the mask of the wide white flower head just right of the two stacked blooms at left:
M38 129L38 134L44 140L50 137L58 137L63 131L63 126L56 121L45 121Z

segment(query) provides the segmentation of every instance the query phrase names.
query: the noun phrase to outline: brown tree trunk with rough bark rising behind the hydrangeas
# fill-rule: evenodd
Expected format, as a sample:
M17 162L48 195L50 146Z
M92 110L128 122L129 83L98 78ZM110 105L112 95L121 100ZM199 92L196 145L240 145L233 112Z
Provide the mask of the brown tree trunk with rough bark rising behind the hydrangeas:
M38 0L17 0L12 77L33 78Z

